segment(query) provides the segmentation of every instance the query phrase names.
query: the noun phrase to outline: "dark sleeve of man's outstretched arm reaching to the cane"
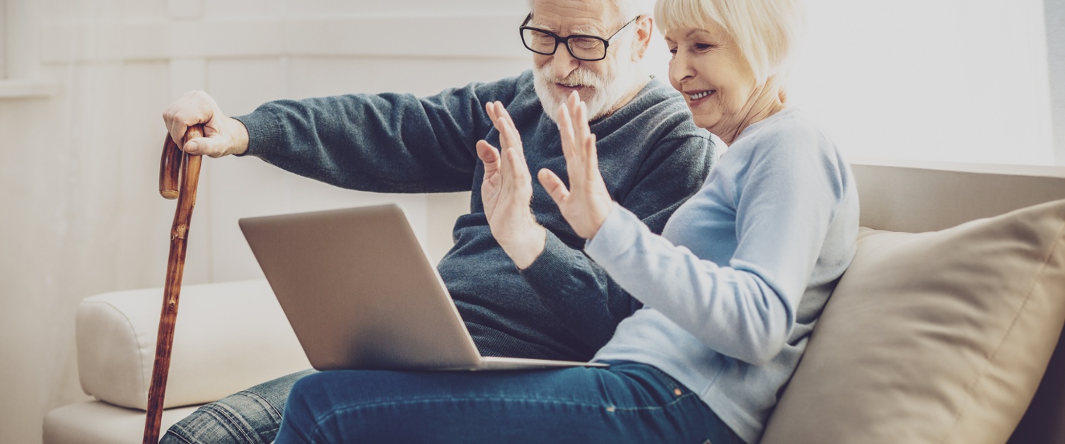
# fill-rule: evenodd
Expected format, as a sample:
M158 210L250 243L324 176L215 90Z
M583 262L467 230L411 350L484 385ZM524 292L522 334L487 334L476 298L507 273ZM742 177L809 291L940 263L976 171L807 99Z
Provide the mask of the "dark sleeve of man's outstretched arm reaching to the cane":
M235 117L246 154L333 185L380 193L469 191L474 144L491 129L484 103L513 99L519 78L409 94L278 100Z

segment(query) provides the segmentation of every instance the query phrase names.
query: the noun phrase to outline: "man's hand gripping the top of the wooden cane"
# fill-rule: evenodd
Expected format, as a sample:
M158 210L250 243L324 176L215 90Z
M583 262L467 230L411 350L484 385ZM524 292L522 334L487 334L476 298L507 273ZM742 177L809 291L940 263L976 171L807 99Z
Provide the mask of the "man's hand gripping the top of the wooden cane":
M220 158L248 150L248 130L244 124L226 117L218 103L201 91L192 91L163 111L163 121L170 138L182 150L192 154ZM194 125L203 125L203 137L185 141L185 131Z

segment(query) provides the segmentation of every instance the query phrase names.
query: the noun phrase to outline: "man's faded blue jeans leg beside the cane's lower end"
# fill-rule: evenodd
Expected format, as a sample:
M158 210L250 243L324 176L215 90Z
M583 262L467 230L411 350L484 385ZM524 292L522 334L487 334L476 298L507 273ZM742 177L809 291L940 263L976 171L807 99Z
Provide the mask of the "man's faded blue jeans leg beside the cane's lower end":
M196 409L159 441L161 444L269 444L281 425L289 391L313 369L294 373Z

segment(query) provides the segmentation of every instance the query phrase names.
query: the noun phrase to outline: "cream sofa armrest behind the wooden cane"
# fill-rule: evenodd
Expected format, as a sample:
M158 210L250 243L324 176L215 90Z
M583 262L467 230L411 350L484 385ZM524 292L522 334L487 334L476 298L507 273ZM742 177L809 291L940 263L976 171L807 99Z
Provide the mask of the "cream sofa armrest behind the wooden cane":
M82 390L146 409L163 289L104 293L78 307ZM164 408L210 402L310 367L265 280L181 290Z

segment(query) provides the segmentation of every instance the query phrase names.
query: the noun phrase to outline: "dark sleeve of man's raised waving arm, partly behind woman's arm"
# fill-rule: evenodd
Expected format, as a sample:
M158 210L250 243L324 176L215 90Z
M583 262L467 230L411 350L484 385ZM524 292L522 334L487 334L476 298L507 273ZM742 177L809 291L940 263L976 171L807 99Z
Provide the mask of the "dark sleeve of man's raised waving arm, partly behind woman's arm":
M645 161L621 204L641 225L660 233L673 211L699 191L715 149L708 137L693 135L662 141L654 152L666 154ZM609 171L603 172L609 180ZM592 349L605 344L618 323L642 307L580 246L567 245L550 230L543 252L521 274L547 310Z

